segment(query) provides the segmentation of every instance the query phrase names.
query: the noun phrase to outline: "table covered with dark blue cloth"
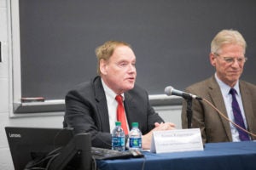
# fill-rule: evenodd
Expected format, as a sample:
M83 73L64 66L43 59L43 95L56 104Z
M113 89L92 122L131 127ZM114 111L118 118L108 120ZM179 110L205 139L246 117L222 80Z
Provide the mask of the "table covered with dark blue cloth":
M154 154L143 151L144 158L97 161L101 170L255 170L256 142L205 144L202 151Z

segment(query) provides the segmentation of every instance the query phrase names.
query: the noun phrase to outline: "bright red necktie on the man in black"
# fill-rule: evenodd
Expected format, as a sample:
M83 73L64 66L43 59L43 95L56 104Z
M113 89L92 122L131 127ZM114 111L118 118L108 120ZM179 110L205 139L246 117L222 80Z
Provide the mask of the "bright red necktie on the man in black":
M121 127L123 128L125 134L128 134L127 124L126 124L126 117L125 117L125 108L123 105L123 96L117 95L115 99L118 102L117 107L117 120L121 122Z

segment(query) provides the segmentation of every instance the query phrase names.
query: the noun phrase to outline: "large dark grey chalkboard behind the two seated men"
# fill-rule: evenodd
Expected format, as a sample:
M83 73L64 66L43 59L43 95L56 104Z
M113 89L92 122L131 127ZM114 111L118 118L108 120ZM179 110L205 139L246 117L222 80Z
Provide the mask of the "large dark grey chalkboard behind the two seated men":
M64 99L96 76L95 48L131 43L137 84L148 94L211 77L212 38L235 29L247 40L242 79L256 83L255 0L20 0L21 97Z

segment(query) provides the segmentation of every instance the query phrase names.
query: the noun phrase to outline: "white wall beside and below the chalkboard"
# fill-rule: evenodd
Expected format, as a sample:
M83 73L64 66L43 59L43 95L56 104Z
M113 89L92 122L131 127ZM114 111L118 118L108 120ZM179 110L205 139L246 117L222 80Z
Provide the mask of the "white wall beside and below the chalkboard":
M0 0L0 41L2 43L2 62L0 63L0 169L4 170L14 170L4 127L62 127L63 120L63 113L10 117L12 115L12 41L9 1ZM166 122L174 122L177 124L177 128L181 127L180 106L156 107L155 109Z

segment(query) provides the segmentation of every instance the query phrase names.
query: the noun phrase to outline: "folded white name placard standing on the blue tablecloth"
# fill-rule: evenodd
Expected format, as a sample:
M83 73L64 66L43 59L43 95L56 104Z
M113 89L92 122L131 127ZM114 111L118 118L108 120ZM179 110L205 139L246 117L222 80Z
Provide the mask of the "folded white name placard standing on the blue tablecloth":
M199 128L154 131L150 151L154 153L203 150Z

